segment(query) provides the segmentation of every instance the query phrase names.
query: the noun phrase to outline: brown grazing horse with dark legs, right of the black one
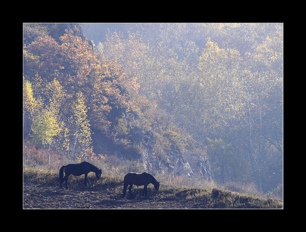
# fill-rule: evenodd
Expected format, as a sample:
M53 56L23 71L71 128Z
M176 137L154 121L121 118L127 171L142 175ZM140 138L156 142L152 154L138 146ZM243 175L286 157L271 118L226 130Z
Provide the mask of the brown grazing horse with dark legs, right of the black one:
M136 172L130 172L125 175L123 180L123 197L125 196L126 189L129 186L129 193L130 197L132 197L132 186L133 184L136 186L144 185L144 192L142 196L147 197L147 186L148 184L154 184L155 190L158 191L159 189L159 182L149 173L143 172L143 173L136 173Z

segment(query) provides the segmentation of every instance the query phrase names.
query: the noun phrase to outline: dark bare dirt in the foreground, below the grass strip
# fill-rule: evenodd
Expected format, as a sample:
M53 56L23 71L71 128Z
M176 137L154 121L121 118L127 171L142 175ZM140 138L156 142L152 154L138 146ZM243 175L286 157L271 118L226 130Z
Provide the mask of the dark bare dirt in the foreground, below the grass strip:
M134 199L122 198L122 195L114 196L107 191L85 187L66 190L59 186L42 186L30 182L25 182L23 187L24 209L181 209L202 207L198 203L187 200L166 201L150 196Z

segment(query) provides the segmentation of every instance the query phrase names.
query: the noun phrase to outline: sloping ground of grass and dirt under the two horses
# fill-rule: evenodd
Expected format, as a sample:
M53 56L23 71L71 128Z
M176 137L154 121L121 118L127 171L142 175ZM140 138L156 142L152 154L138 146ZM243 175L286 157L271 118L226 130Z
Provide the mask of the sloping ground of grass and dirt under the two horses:
M88 175L69 177L69 190L61 189L58 171L24 168L23 208L219 208L282 209L282 201L213 189L189 188L163 184L158 192L148 186L148 197L142 197L143 186L133 186L134 197L122 198L123 176L103 175L100 180ZM52 203L54 201L54 204Z

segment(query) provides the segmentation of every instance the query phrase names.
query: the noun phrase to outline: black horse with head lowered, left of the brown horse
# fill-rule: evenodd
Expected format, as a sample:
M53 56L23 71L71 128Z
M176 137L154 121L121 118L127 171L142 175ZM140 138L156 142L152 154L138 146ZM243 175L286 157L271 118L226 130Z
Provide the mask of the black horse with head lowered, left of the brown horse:
M65 177L64 176L64 171L65 171ZM59 170L59 182L61 187L63 188L63 182L66 182L66 189L68 189L67 186L67 180L69 175L75 175L75 176L80 176L85 174L85 179L84 179L84 186L87 186L87 175L89 172L95 172L97 179L99 180L102 174L102 170L97 168L95 165L92 165L86 161L80 163L80 164L68 164L66 166L63 166Z

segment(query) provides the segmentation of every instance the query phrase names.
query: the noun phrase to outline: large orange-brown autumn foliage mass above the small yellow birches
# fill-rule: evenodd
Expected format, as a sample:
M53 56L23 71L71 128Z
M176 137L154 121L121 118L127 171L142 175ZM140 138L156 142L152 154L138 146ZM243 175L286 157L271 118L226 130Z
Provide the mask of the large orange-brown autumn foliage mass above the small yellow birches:
M65 90L63 113L66 114L69 114L69 101L73 101L76 93L82 90L90 108L88 114L92 125L107 130L112 107L131 107L128 92L123 89L137 90L135 79L125 75L116 61L101 64L88 42L73 35L73 31L66 31L59 41L61 43L50 36L38 37L25 47L29 57L25 63L27 78L33 81L33 72L38 73L43 80L42 86L56 78ZM41 91L43 98L47 99L46 91Z

